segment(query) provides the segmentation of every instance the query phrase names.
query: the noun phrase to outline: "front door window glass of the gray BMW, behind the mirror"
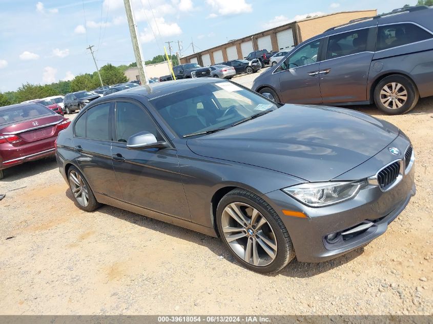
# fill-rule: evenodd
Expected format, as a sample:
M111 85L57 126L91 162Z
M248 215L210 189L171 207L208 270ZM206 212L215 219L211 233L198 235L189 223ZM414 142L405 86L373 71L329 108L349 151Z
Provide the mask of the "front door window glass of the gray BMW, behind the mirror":
M152 118L141 107L130 102L117 102L116 140L127 143L132 135L140 132L149 132L162 140Z

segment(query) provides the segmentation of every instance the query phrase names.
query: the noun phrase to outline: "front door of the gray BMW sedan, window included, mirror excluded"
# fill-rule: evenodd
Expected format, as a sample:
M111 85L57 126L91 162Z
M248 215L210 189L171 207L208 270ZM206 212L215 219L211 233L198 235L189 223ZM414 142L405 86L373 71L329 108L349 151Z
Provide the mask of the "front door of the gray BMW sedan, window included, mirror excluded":
M117 101L116 138L111 155L123 200L159 213L190 220L176 149L127 148L129 137L144 131L154 134L158 140L164 139L145 107L136 102Z

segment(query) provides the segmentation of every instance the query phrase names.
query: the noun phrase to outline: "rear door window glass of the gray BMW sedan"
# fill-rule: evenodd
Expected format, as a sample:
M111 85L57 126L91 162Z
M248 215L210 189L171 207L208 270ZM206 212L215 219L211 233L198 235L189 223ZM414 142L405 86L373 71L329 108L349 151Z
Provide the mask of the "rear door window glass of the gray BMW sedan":
M87 111L86 137L95 140L111 140L109 132L110 103L102 103Z

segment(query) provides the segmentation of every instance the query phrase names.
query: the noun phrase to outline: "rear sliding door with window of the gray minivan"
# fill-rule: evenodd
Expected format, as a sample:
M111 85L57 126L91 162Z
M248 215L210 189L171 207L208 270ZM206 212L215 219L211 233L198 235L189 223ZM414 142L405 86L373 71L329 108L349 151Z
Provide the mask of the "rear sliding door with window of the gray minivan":
M319 64L323 103L367 100L367 79L374 55L376 28L329 36Z

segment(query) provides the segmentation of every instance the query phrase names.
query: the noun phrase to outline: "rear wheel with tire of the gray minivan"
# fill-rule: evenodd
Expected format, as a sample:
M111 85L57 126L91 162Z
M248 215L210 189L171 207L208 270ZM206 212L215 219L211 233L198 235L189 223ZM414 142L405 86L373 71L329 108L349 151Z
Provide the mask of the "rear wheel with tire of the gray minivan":
M419 99L415 84L402 75L390 75L375 88L376 106L388 115L399 115L412 110Z

